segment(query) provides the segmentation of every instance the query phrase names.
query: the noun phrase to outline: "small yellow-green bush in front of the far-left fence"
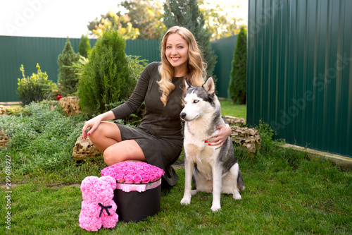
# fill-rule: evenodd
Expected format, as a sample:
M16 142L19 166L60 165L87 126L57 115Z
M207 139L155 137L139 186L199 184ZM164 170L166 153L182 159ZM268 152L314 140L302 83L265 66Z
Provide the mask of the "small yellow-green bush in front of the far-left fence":
M17 93L23 106L31 102L50 99L51 93L57 90L56 83L48 80L48 75L40 70L39 64L37 64L37 73L33 73L30 77L25 77L23 64L21 64L20 71L23 78L18 78Z

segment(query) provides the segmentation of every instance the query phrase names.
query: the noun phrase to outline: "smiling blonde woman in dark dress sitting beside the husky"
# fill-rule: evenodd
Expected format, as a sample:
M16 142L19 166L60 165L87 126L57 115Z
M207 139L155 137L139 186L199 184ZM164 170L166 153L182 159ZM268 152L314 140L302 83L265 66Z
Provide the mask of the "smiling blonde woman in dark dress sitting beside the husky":
M184 78L192 85L203 85L205 68L191 32L178 26L170 28L161 42L161 63L144 68L127 102L84 123L82 137L89 135L108 166L128 160L148 162L163 169L165 180L174 186L178 176L171 165L183 145L180 112ZM106 122L132 114L142 102L146 112L136 128ZM231 133L228 125L218 128L219 134L206 141L209 145L221 147Z

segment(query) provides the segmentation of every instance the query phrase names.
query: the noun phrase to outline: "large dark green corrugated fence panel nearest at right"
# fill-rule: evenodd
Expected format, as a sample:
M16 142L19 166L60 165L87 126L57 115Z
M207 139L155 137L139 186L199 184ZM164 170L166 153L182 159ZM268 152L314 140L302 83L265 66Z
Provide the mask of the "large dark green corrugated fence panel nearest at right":
M352 1L250 0L247 122L352 157Z

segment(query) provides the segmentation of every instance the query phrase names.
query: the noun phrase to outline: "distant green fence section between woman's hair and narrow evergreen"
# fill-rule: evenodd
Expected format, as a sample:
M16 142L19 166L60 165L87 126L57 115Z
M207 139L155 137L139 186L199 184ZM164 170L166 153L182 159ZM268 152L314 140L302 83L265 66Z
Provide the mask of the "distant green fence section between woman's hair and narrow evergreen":
M216 91L218 96L228 98L230 83L230 72L232 59L234 59L234 47L236 47L237 35L211 41L215 54L218 56L218 63L215 65L213 74L216 76Z

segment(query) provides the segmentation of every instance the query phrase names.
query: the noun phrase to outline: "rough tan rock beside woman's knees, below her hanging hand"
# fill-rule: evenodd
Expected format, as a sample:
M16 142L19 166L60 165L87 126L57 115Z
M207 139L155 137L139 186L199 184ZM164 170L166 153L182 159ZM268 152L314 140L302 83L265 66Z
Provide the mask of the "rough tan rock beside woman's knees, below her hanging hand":
M103 153L100 152L92 143L91 140L89 140L89 137L84 140L82 139L82 135L77 138L75 147L73 147L72 151L72 157L73 159L77 160L82 160L86 159L87 157L97 157L97 156L102 156Z

